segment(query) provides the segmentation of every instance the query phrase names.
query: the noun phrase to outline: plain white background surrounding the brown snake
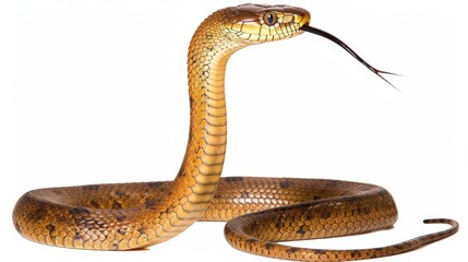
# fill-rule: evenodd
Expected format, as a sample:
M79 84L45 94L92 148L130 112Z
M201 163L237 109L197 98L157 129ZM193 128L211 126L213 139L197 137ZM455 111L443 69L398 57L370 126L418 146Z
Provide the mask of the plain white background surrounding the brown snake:
M231 249L224 223L196 223L168 242L135 252L36 245L11 223L16 199L34 188L173 178L188 136L189 40L209 13L242 3L193 2L0 3L2 255L17 261L271 261ZM403 74L388 76L401 92L310 34L241 50L227 72L224 176L347 179L393 192L400 212L393 230L297 243L303 247L383 246L445 228L422 225L427 217L466 222L461 4L283 2L308 9L312 26L337 35L371 64ZM464 237L461 231L381 261L457 259Z

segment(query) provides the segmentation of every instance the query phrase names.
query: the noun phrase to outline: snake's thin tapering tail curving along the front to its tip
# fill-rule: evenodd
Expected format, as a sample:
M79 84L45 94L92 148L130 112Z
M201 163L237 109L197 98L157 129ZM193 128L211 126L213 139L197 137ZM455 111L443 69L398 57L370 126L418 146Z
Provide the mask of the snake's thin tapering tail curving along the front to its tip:
M309 236L305 234L296 235L292 239L271 239L264 240L259 238L259 233L254 229L259 227L255 218L250 215L237 217L229 221L225 227L225 235L228 242L236 249L257 254L262 257L279 258L292 261L309 261L309 262L338 262L338 261L355 261L355 260L369 260L384 257L401 254L420 249L427 245L440 241L458 231L458 223L447 218L424 219L425 224L448 224L448 229L419 236L399 243L389 245L379 248L367 249L350 249L350 250L336 250L336 249L313 249L313 248L297 248L277 243L276 241L286 240L304 240L314 239L313 233ZM273 221L272 221L273 223ZM361 231L367 233L367 231ZM355 233L356 234L356 233ZM339 229L332 234L339 236ZM327 236L324 236L327 237Z

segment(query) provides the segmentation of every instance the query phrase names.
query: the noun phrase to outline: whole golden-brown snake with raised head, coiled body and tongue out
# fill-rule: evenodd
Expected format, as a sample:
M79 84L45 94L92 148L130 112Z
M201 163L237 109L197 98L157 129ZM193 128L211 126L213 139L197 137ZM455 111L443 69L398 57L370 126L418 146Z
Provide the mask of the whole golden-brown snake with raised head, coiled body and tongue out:
M382 258L456 234L456 221L431 218L423 222L449 228L377 248L292 247L284 242L392 228L398 216L395 201L384 188L362 182L220 177L227 144L225 72L236 51L309 32L338 44L383 80L381 74L389 73L367 63L334 35L310 26L310 21L307 10L289 5L241 4L211 14L190 41L190 132L176 178L32 190L14 206L16 230L44 245L133 250L164 242L197 221L227 221L225 237L233 248L295 261Z

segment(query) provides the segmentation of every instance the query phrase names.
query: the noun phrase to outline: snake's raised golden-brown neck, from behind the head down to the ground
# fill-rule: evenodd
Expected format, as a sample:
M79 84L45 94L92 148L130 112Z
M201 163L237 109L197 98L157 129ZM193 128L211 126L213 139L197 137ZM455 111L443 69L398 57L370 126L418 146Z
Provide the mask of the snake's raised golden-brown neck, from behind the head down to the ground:
M196 29L189 47L190 135L173 186L159 207L165 241L189 227L208 206L220 179L226 153L225 70L242 46L223 34L217 12ZM166 216L167 214L167 216Z

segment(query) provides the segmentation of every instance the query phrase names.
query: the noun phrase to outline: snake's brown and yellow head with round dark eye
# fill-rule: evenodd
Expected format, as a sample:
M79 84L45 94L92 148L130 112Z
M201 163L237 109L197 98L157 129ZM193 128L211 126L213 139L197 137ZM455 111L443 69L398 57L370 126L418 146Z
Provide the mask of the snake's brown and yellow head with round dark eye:
M242 4L231 8L226 17L226 34L232 40L244 44L290 38L302 34L310 13L288 5Z

